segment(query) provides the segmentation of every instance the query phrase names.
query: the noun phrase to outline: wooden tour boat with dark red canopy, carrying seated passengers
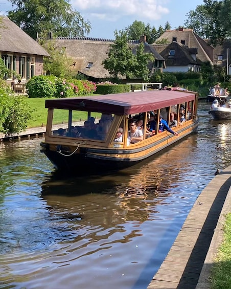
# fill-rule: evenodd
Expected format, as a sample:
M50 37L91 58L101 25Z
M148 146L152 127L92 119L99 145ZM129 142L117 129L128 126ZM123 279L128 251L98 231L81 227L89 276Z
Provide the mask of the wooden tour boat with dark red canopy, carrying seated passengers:
M48 120L41 152L62 172L94 174L130 167L195 131L198 126L197 105L196 92L168 90L47 99ZM142 141L129 143L130 121L142 119L148 125L150 116L151 119L153 115L159 119L161 114L169 123L170 113L174 113L179 124L182 107L186 121L173 128L178 135L167 130L160 132L157 121L153 136L144 133ZM62 129L58 130L55 120L60 110L62 115L66 115L66 124L64 120L58 125ZM110 120L107 120L107 133L102 134L105 115ZM94 128L90 128L91 134L88 134L86 124L89 125L89 121L85 124L86 128L83 121L90 118L95 119L95 123ZM123 137L118 142L115 139L119 128L123 130Z

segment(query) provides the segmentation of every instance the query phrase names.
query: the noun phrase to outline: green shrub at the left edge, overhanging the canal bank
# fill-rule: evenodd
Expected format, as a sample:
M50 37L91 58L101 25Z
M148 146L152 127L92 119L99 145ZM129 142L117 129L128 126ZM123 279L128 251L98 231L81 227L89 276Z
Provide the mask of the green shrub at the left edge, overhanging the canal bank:
M32 113L33 109L26 102L25 96L9 95L3 87L0 87L1 132L9 134L25 130Z

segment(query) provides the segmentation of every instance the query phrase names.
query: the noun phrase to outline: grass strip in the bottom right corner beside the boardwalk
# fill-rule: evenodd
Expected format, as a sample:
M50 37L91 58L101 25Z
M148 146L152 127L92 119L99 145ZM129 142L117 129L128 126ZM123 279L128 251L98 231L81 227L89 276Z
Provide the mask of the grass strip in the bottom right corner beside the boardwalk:
M226 215L224 240L218 249L211 274L211 289L231 288L231 213Z

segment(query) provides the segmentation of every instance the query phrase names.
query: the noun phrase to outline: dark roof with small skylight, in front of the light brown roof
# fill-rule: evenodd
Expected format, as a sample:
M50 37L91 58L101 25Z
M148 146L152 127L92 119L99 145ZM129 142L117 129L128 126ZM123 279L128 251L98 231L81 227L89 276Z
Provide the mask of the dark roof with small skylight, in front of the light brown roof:
M188 48L181 43L173 41L170 44L152 45L155 50L165 58L166 66L186 66L189 64L201 64L199 59L195 59L192 55L197 54L197 48ZM169 51L174 50L175 55L169 55Z

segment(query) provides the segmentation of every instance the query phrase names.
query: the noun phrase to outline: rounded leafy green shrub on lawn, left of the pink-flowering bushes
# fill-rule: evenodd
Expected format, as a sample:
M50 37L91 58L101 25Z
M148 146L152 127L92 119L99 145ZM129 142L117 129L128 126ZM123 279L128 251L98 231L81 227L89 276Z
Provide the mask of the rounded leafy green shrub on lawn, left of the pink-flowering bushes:
M56 94L55 77L47 77L44 75L33 76L27 82L26 88L29 97L54 97Z

